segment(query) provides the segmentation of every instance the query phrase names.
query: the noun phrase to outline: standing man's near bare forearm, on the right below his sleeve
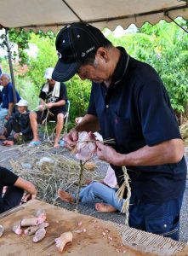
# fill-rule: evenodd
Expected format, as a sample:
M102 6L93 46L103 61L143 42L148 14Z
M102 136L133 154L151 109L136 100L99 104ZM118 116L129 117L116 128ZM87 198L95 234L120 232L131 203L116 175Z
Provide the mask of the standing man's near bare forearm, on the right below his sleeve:
M178 163L184 155L182 140L173 139L156 146L145 146L129 154L114 155L117 166L156 166Z

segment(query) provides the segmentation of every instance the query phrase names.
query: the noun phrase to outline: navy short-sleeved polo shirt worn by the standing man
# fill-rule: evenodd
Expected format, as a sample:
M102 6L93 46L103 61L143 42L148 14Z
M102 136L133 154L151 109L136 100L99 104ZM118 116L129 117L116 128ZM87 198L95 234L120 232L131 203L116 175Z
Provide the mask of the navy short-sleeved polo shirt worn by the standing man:
M132 57L128 61L126 51L119 49L122 55L109 88L93 83L88 106L88 113L100 121L103 138L114 138L113 147L121 154L180 138L167 90L156 71ZM111 167L121 186L122 168ZM144 203L161 204L184 193L184 158L177 164L126 167L131 189Z

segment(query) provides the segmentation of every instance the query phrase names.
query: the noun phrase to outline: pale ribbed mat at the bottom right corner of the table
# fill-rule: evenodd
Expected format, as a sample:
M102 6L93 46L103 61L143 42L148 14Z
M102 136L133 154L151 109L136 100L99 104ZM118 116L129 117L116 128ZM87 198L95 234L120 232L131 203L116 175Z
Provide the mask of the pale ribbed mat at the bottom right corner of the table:
M124 245L133 247L140 252L168 256L174 255L185 247L185 243L180 241L129 228L124 224L115 224L110 221L109 223L117 228Z

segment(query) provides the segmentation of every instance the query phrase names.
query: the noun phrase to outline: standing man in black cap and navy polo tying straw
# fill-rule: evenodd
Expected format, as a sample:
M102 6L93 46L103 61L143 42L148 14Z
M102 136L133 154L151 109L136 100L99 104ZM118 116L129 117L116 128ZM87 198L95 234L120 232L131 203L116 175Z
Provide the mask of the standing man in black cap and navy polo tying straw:
M92 81L88 114L66 136L67 147L76 144L78 131L100 130L104 139L114 138L113 148L98 142L97 154L111 164L119 185L122 166L127 167L132 189L129 225L178 240L186 164L162 80L151 66L114 47L88 24L63 28L56 49L55 80L78 73Z

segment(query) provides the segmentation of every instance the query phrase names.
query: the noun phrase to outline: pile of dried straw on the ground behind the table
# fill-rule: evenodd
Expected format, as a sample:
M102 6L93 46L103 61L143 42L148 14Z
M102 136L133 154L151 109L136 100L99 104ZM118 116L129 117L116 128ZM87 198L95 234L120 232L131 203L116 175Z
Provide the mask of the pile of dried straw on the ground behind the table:
M79 161L68 158L63 152L54 154L51 149L47 144L40 148L18 148L19 159L16 157L17 160L9 160L9 163L14 173L36 185L38 199L57 205L58 189L76 192L80 166ZM84 166L83 183L87 179L102 178L94 167L96 165L90 162Z

